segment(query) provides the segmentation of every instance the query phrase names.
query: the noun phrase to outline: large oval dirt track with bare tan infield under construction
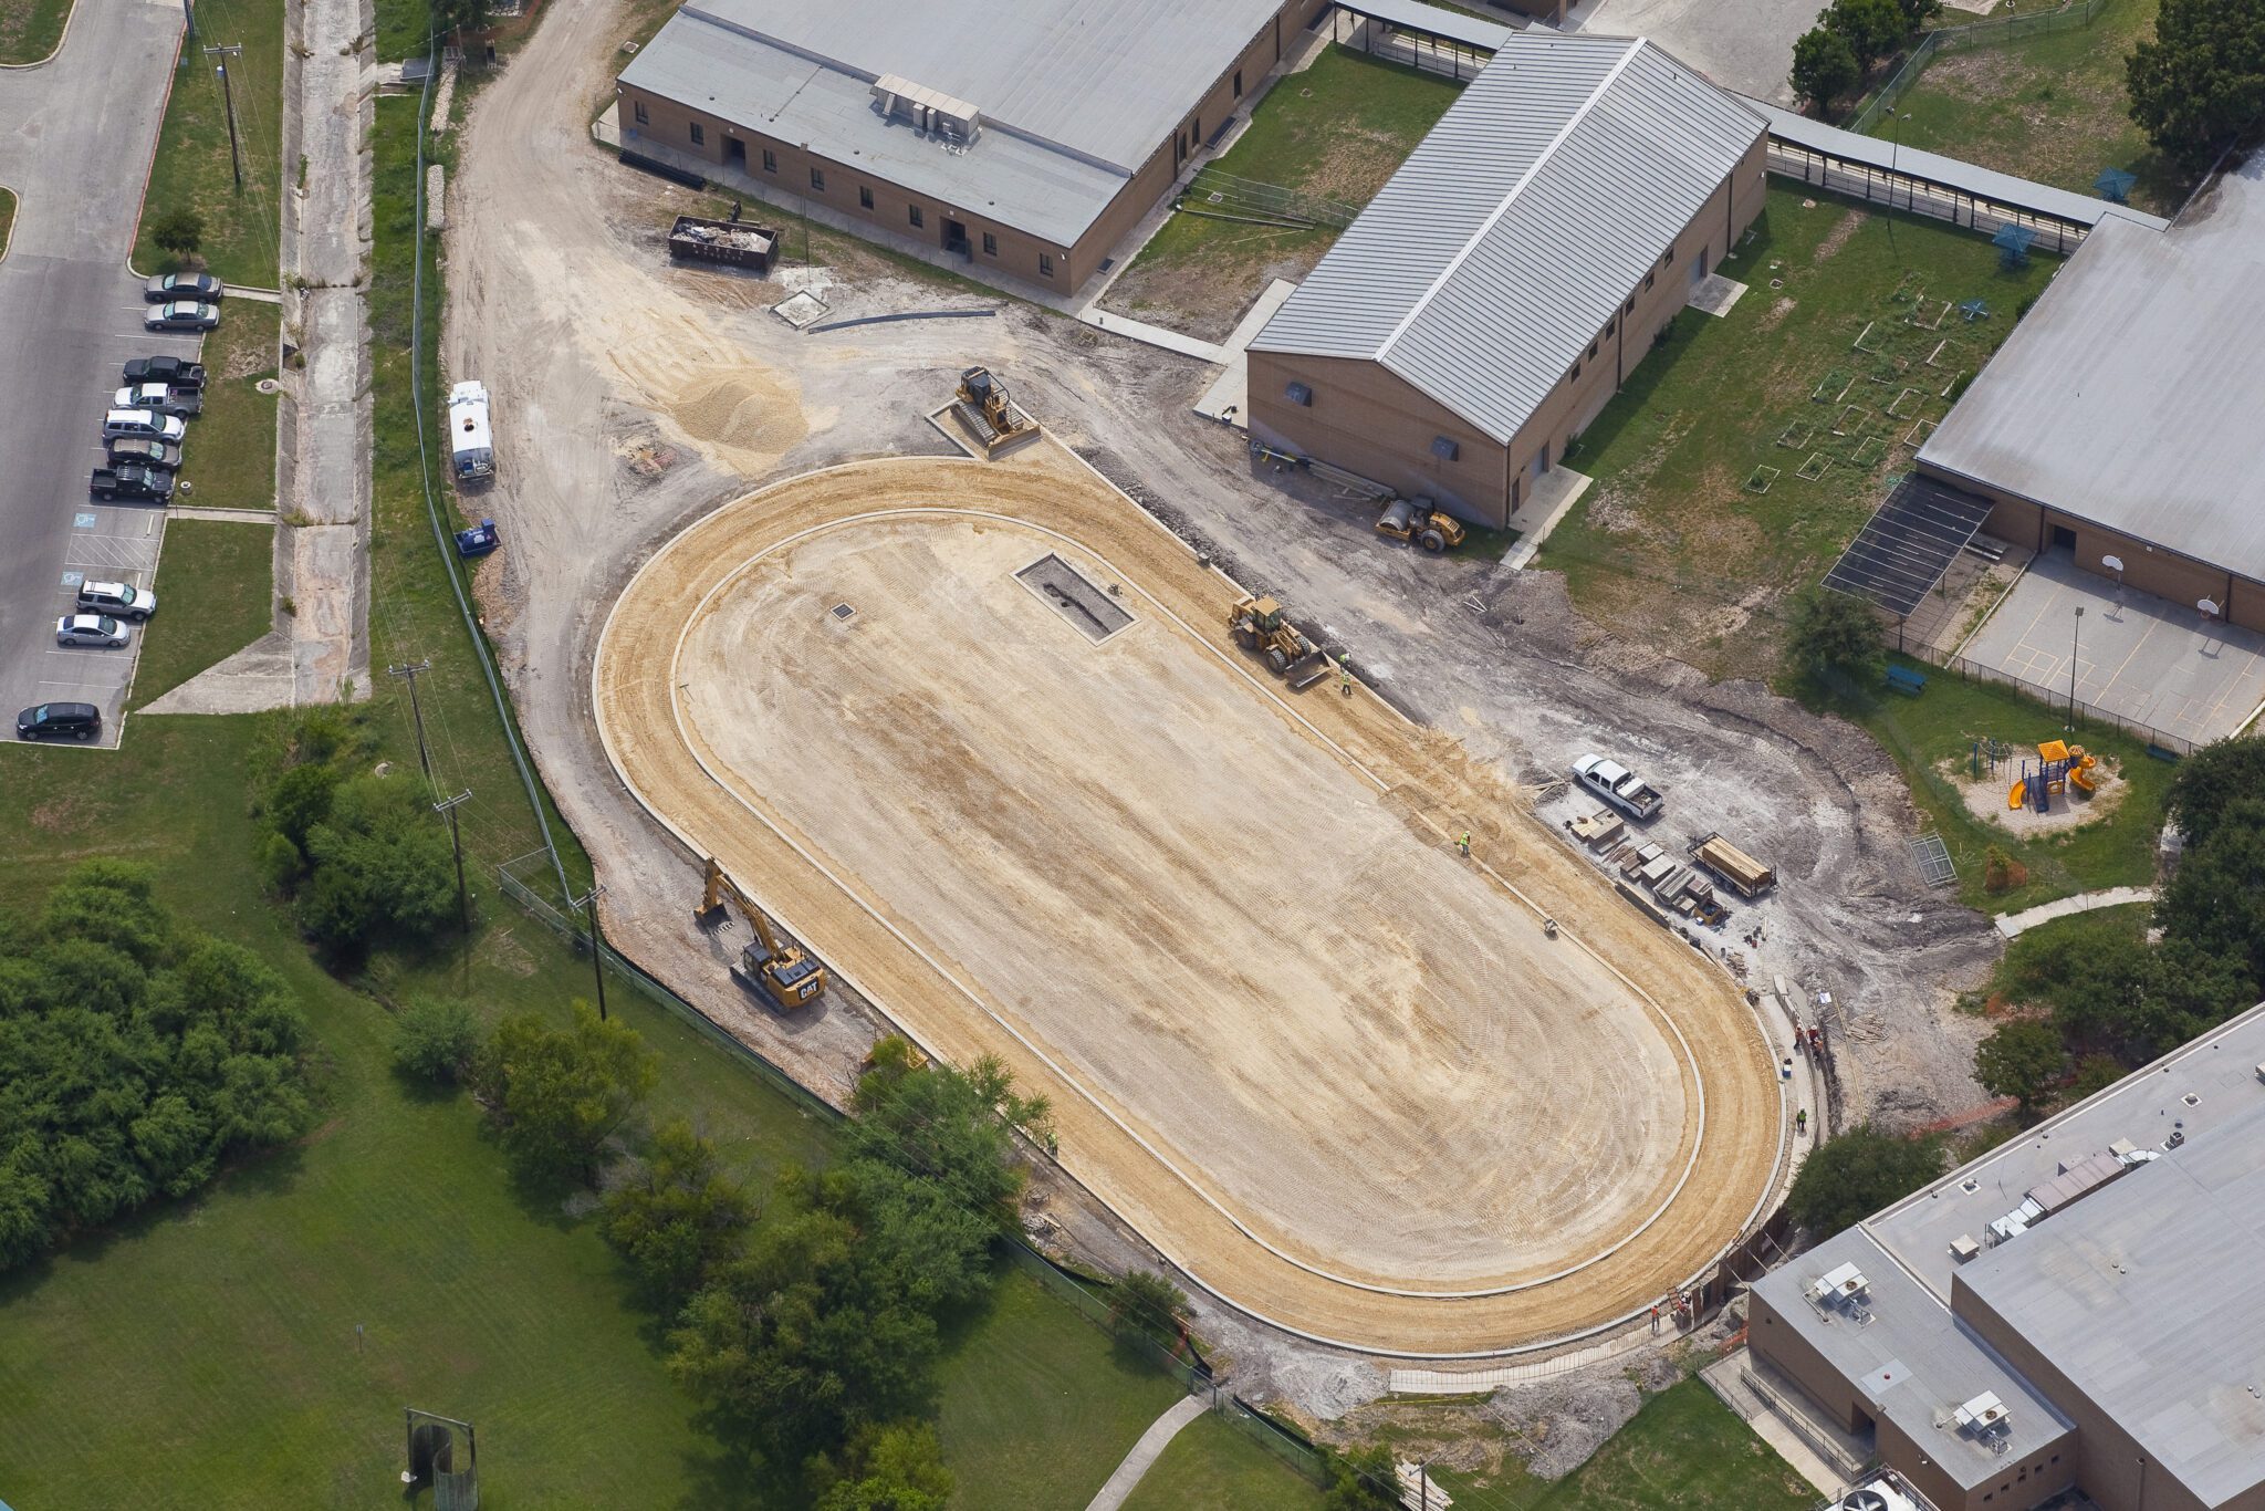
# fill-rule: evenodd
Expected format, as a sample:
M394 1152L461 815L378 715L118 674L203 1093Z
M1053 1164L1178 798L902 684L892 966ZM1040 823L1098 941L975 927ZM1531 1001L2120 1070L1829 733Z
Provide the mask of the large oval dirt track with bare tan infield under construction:
M1015 578L1049 553L1132 623ZM1053 446L861 462L670 541L598 723L915 1040L1046 1092L1062 1164L1223 1300L1404 1355L1647 1307L1776 1169L1751 1010L1459 745L1266 677L1230 598Z

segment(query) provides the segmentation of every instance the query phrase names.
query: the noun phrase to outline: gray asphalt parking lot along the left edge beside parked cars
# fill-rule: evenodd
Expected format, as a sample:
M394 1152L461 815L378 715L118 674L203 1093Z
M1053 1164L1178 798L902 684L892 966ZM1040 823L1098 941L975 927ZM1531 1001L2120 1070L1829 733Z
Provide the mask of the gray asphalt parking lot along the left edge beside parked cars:
M52 63L0 72L0 181L18 190L0 258L0 714L93 702L116 745L143 628L125 650L63 650L54 621L77 575L147 587L161 505L95 505L102 412L136 356L195 356L145 335L127 267L156 143L179 7L82 5ZM190 446L195 421L190 421ZM77 573L77 575L72 575ZM165 634L163 616L147 632Z

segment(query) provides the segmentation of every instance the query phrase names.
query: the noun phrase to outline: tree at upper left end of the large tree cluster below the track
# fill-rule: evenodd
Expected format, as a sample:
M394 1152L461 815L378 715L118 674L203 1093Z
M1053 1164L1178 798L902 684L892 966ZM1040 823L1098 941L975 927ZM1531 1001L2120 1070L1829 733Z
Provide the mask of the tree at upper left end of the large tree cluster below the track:
M716 1146L682 1117L661 1124L646 1158L598 1207L605 1241L670 1318L745 1246L752 1223L754 1201L716 1167Z

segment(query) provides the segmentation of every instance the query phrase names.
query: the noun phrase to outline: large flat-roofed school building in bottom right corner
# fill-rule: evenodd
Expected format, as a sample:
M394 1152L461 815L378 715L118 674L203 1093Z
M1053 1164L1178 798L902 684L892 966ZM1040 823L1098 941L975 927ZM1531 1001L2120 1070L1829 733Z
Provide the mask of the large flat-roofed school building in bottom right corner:
M2265 1006L1764 1275L1749 1350L1941 1511L2258 1511Z

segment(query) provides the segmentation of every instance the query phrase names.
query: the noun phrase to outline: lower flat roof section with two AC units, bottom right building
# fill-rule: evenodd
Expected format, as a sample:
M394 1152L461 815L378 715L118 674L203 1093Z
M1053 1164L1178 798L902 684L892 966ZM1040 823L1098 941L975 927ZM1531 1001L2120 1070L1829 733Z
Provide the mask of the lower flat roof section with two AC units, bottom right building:
M1869 1298L1862 1314L1810 1298L1810 1287L1841 1264L1864 1273ZM1848 1228L1762 1275L1753 1291L1844 1380L1855 1382L1875 1418L1896 1423L1964 1488L1995 1479L2005 1466L2050 1450L2070 1432L2052 1402L2007 1368L1862 1228ZM2005 1457L1950 1420L1959 1405L1984 1391L2007 1407Z

